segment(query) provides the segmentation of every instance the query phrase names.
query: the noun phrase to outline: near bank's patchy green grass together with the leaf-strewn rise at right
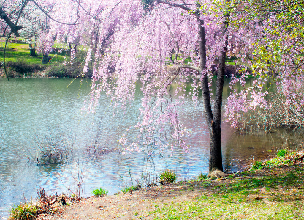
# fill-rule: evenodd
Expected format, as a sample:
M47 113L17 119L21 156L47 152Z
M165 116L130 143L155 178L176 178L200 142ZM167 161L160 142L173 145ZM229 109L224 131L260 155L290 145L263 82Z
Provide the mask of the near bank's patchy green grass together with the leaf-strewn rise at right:
M304 220L304 166L294 163L303 157L281 152L284 156L254 162L256 170L222 180L198 181L197 186L208 189L200 188L193 199L180 201L177 198L176 202L164 204L149 215L151 219ZM257 170L261 167L263 171Z

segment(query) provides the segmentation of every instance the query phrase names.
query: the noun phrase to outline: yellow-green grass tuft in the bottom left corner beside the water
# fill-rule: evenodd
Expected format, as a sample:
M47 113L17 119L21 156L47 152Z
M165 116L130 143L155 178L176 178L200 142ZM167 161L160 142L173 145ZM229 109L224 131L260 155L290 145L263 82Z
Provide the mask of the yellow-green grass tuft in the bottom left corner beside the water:
M13 206L9 211L9 219L12 220L30 220L36 219L37 207L32 203Z

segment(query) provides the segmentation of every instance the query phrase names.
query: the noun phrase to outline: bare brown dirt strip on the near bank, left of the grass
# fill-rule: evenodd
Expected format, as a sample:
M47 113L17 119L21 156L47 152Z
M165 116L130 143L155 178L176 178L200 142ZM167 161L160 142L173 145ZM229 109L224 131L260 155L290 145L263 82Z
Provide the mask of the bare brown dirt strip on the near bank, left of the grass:
M187 201L202 193L200 187L193 191L188 187L188 184L176 183L144 188L132 194L90 197L70 207L61 207L56 215L42 215L40 219L151 219L149 211L161 204Z

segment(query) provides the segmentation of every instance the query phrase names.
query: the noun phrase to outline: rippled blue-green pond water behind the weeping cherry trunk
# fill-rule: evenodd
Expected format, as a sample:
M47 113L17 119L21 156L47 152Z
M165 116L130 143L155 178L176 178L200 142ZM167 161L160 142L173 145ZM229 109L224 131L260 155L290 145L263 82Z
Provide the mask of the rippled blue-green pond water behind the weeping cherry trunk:
M37 188L44 188L49 194L75 192L75 178L80 173L83 174L83 197L90 196L96 187L114 194L131 181L143 181L147 173L164 169L174 170L178 180L208 173L209 134L200 100L194 107L189 98L180 113L182 123L191 131L187 139L192 146L190 153L174 152L170 156L169 151L161 155L156 152L147 159L144 152L132 155L112 152L99 153L96 157L89 149L98 131L105 148L115 148L116 138L128 125L136 124L140 89L137 88L136 100L126 113L118 112L112 118L110 100L105 95L95 115L81 114L90 92L90 81L83 81L82 85L80 80L69 85L70 82L71 79L11 79L9 82L0 79L0 217L5 218L9 207L22 201L23 195L35 198ZM297 131L273 129L268 134L237 135L224 122L222 129L223 165L231 171L240 170L250 159L267 158L278 148L302 147L303 135ZM41 157L36 142L45 143L51 136L58 140L59 134L70 141L77 134L73 145L75 156Z

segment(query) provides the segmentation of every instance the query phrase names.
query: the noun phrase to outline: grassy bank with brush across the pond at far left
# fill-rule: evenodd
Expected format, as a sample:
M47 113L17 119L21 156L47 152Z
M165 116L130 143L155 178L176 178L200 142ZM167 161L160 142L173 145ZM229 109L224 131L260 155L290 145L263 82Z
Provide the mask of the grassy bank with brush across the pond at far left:
M4 42L0 42L0 60L3 60ZM5 53L5 63L9 78L76 78L82 74L85 51L78 51L73 62L69 63L69 51L64 46L55 44L54 52L48 54L51 62L42 64L42 54L29 56L29 45L23 42L9 42ZM66 63L63 65L63 63ZM1 62L2 63L2 62ZM3 67L0 77L6 77ZM90 77L86 75L85 77Z

